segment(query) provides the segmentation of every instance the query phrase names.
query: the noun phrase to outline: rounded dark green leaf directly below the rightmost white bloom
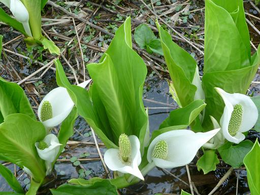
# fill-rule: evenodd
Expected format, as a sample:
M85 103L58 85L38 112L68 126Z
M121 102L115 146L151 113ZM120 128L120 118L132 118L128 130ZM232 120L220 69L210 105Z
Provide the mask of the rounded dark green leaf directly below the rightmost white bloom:
M218 148L218 152L226 164L233 168L240 168L243 165L245 155L251 150L252 146L253 143L249 140L242 141L234 146L233 143L226 142Z

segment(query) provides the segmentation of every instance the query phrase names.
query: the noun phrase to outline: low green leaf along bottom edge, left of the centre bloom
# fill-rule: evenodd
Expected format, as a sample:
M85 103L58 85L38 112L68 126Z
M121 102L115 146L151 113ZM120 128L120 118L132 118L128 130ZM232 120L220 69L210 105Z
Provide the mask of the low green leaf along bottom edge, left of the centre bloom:
M108 179L92 178L83 185L69 185L63 184L57 189L51 189L53 195L87 195L87 194L106 194L106 195L117 195L117 190L114 185L111 184ZM76 182L75 179L73 182ZM80 181L80 184L83 180ZM77 183L77 182L76 182Z

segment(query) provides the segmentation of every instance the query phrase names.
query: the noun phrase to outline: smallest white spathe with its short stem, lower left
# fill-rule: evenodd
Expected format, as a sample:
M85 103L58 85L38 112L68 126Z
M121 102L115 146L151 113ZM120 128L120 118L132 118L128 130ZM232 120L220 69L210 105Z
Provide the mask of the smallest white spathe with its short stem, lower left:
M56 159L58 153L59 153L59 148L62 144L59 143L58 138L53 135L49 134L45 136L44 142L47 143L49 146L48 148L45 148L44 150L39 149L39 142L35 143L35 147L37 149L37 152L43 160L45 160L45 165L46 165L46 175L49 175L52 171L52 162Z

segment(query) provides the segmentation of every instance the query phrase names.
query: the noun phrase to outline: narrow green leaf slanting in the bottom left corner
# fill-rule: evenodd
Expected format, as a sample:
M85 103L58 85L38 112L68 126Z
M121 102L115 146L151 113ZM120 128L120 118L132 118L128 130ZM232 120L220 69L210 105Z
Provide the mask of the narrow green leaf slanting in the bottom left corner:
M7 183L10 185L10 187L12 187L13 190L18 193L24 192L13 173L2 164L0 164L0 175L6 179Z

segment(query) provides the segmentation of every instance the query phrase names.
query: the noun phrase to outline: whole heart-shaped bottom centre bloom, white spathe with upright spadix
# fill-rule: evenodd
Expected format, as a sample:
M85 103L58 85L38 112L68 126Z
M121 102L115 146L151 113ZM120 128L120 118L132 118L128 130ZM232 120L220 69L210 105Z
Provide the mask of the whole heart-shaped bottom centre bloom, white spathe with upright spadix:
M144 177L138 166L141 164L140 142L136 136L122 134L120 148L110 148L104 154L104 161L109 169L132 174L142 180Z

